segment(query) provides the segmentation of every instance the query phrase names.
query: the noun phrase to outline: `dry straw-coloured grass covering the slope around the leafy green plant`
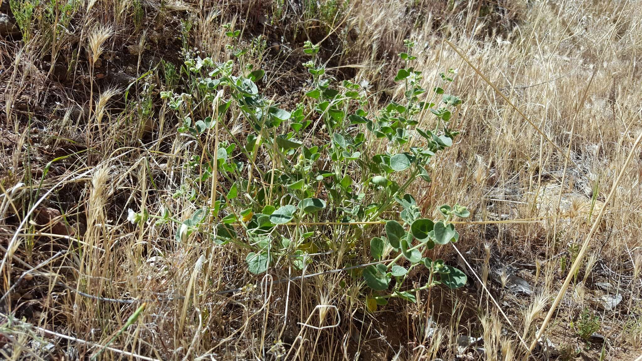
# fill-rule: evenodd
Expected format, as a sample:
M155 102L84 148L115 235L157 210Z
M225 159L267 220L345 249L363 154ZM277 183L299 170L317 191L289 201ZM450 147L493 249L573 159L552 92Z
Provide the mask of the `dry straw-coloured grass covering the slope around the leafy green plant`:
M576 260L546 328L553 345L534 356L642 353L638 1L335 1L338 10L321 1L308 11L309 3L54 1L34 8L30 36L0 40L1 357L87 359L108 344L99 358L522 360ZM0 8L8 12L7 2ZM239 247L177 242L176 225L128 222L128 209L168 209L177 220L196 210L175 194L189 176L182 165L201 150L177 134L159 92L177 89L183 44L231 57L225 22L247 44L263 36L253 57L267 73L260 86L292 109L304 92L308 39L321 42L334 76L369 82L375 103L403 95L389 81L403 39L419 44L427 89L456 69L446 90L464 99L452 121L462 136L433 161L433 182L408 193L428 216L455 202L473 213L457 250L435 254L463 267L469 286L431 288L417 303L372 313L358 279L330 272L362 261L349 260L354 250L343 243L311 256L303 273L277 265L256 276ZM421 123L434 119L427 112ZM239 139L250 130L240 117L226 127ZM324 232L341 243L351 227L363 240L373 233ZM366 254L356 247L352 254ZM512 292L507 270L532 294ZM623 295L613 310L599 307L605 292L596 285L606 282ZM600 318L605 341L578 338L585 309ZM483 342L458 349L462 335Z

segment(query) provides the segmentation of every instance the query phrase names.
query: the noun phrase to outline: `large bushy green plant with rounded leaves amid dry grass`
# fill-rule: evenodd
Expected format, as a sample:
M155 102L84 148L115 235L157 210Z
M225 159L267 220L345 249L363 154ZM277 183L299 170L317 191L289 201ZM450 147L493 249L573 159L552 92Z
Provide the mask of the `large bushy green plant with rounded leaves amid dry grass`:
M414 43L406 40L408 50L400 54L404 67L395 77L404 84L404 99L370 114L365 89L347 80L339 87L333 85L325 67L318 64L320 45L306 42L303 50L311 58L304 66L312 80L306 100L290 112L259 91L257 82L265 71L254 69L252 59L246 59L254 54L250 50L256 42L245 48L239 30L230 24L223 28L232 58L214 62L188 52L180 70L187 78L184 92L160 93L177 114L178 132L200 148L196 152L200 155L183 164L186 178L173 195L198 210L184 221L173 218L169 210L161 216L130 211L130 221L177 224L175 240L180 243L189 242L193 234L218 245L232 243L248 251L247 270L254 274L266 272L279 261L302 269L311 262L307 254L319 249L344 252L354 260L361 234L374 224L385 224L385 236L370 240L370 254L375 260L390 251L397 254L393 260L363 269L366 285L379 293L370 297L370 308L373 302L385 304L389 297L415 301L416 291L435 285L465 285L464 272L423 253L435 245L456 242L459 235L451 220L466 218L469 211L458 204L444 205L442 218L423 218L413 196L405 192L417 180L430 181L428 164L453 144L458 132L447 125L451 110L462 102L440 87L433 89L435 96L442 97L440 107L420 100L426 90L419 86L421 71L412 67ZM434 130L419 127L419 114L428 109L437 117ZM230 129L226 121L230 112L249 125L245 139ZM327 133L329 141L304 145L306 135L315 132ZM413 144L413 134L422 137L421 146ZM375 143L385 151L372 152ZM322 155L327 166L320 164ZM395 179L404 181L399 184ZM405 228L397 220L381 219L395 204L401 206L398 214ZM351 226L341 242L329 236L324 243L318 226L327 222L363 225ZM404 290L408 272L417 266L430 270L428 283ZM392 292L383 292L393 278Z

